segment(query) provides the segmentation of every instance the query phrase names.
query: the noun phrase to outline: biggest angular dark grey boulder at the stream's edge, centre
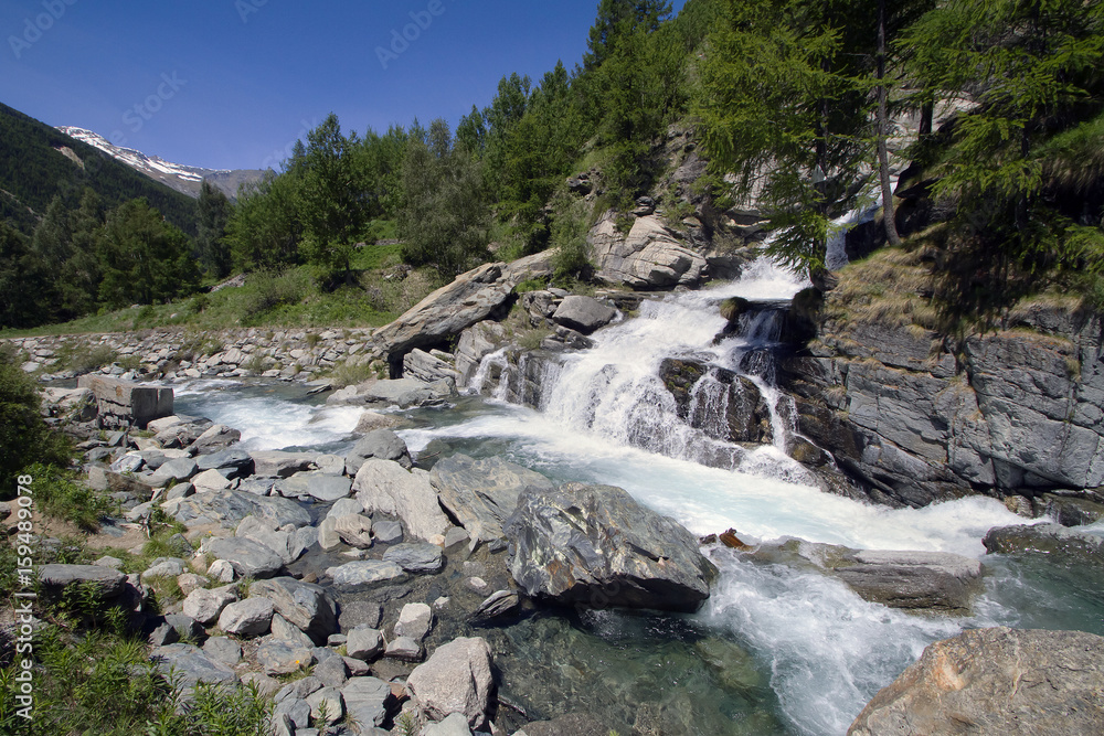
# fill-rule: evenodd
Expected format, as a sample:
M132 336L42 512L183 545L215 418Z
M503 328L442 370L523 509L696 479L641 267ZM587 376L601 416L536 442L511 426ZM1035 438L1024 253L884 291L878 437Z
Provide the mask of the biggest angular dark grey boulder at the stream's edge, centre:
M716 576L697 537L612 486L531 488L505 529L513 579L561 605L694 611Z

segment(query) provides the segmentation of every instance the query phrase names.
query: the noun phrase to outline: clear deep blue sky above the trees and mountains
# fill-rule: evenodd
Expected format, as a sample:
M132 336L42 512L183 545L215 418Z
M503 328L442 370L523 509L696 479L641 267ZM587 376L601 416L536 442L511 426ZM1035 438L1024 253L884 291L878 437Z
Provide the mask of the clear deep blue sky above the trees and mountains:
M596 7L0 0L0 102L169 161L254 169L330 111L358 132L414 117L455 125L505 74L537 82L561 58L573 68ZM414 40L394 42L404 32Z

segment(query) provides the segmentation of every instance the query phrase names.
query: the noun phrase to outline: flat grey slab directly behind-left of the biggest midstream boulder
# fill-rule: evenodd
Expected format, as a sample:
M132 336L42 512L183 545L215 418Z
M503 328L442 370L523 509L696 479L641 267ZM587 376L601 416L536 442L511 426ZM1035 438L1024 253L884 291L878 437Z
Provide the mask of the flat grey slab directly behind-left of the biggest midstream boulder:
M518 498L529 487L552 490L554 484L539 472L501 458L475 460L454 455L433 466L429 480L440 505L476 542L505 546L502 524L518 508Z

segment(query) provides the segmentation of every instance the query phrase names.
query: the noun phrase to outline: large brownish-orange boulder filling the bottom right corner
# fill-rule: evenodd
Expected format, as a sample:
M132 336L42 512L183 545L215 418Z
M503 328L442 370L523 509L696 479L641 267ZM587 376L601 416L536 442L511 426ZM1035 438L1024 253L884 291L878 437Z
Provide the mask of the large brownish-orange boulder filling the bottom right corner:
M964 631L925 649L848 734L1100 734L1101 661L1104 638L1081 631Z

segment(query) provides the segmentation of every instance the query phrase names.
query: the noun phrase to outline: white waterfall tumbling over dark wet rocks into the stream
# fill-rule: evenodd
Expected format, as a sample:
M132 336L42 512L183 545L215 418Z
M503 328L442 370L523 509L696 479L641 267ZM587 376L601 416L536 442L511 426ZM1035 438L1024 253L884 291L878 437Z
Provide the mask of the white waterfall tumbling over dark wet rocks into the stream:
M637 319L599 331L588 350L560 355L555 370L542 367L530 382L532 396L529 369L511 365L506 350L482 360L469 388L531 404L570 430L670 458L800 476L784 455L792 428L777 406L773 349L785 305L805 286L761 258L735 281L644 301ZM751 308L726 334L721 303L732 297Z

